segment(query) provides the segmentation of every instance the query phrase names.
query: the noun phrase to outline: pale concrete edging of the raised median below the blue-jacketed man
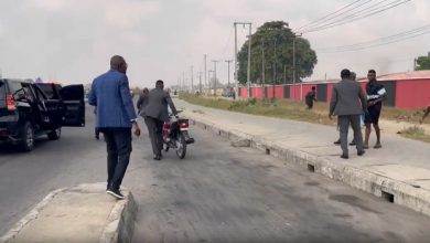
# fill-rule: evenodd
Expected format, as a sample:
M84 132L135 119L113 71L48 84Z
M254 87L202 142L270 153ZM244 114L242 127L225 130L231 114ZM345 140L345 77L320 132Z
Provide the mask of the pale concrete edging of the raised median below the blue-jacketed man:
M39 213L58 194L67 191L86 191L94 192L96 184L79 184L72 188L62 188L49 193L36 207L34 207L24 218L22 218L15 226L0 237L0 243L12 242L20 231L37 219ZM105 187L105 183L103 183ZM128 190L122 190L126 196L125 200L118 200L112 208L107 224L99 237L100 243L114 242L131 242L135 230L135 218L137 212L137 204L132 193Z

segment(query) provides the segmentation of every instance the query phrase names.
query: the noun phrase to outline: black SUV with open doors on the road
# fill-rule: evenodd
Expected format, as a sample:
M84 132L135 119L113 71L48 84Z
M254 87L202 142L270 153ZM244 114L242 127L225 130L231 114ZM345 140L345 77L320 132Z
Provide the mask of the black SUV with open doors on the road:
M61 137L63 126L85 126L84 86L0 80L0 144L34 148L34 139Z

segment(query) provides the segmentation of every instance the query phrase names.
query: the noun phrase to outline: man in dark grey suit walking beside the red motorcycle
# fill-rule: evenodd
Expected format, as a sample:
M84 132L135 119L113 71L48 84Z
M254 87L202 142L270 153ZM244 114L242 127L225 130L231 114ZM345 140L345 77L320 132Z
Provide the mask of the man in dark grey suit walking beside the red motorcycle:
M144 123L148 127L149 137L151 139L153 159L161 160L161 150L163 149L163 124L169 122L169 107L173 115L178 115L176 108L169 93L163 91L164 82L157 81L155 88L148 94L148 104L143 107L140 115L144 117Z

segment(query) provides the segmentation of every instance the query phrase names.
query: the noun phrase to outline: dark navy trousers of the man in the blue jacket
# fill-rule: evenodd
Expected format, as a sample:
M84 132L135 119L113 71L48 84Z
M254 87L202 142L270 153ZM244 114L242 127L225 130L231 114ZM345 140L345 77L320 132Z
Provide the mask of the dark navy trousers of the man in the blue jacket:
M105 128L101 130L105 135L107 147L107 170L108 187L119 189L131 154L131 129L130 128Z

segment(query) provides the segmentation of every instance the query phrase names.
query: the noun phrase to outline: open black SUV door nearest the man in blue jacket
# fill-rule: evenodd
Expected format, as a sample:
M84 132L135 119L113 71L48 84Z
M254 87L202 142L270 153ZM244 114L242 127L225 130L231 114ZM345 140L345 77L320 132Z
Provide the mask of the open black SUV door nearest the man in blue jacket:
M65 107L62 126L85 126L84 94L84 85L82 84L68 85L60 89L60 95Z

